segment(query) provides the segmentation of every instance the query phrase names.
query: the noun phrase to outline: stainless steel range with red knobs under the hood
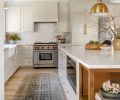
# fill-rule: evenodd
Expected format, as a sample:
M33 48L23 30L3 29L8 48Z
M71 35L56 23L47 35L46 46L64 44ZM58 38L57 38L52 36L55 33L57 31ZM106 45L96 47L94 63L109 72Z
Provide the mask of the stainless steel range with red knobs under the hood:
M58 66L58 45L55 42L36 42L33 45L33 65L38 67Z

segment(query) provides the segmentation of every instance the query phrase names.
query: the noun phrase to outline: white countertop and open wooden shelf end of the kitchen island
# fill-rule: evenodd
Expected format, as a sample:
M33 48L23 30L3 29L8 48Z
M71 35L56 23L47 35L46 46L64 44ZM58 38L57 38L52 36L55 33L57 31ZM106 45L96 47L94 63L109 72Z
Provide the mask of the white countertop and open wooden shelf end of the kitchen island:
M104 81L120 82L120 51L112 47L110 50L85 50L84 46L72 45L59 49L77 63L76 100L94 100Z

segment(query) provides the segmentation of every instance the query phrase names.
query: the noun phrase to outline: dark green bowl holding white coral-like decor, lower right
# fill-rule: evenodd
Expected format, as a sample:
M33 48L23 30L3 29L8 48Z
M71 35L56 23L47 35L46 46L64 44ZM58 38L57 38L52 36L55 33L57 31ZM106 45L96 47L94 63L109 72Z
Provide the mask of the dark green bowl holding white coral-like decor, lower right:
M100 92L101 95L102 95L104 98L106 98L106 99L120 100L120 94L108 93L108 92L104 91L102 87L100 88L99 92Z

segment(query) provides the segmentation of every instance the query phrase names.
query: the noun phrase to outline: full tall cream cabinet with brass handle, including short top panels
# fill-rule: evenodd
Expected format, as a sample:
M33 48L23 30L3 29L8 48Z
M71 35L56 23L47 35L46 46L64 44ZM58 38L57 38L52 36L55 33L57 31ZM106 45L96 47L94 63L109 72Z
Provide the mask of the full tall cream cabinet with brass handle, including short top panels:
M93 3L78 3L71 5L71 38L72 44L84 45L90 40L98 40L98 17L89 13ZM84 25L87 34L84 34Z

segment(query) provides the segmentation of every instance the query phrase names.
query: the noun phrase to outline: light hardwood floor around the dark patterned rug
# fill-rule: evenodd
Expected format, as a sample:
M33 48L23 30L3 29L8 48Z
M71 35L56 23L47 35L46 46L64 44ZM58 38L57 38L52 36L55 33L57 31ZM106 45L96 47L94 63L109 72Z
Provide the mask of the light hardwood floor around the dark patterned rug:
M13 100L24 77L32 73L57 73L57 69L20 68L5 84L5 100Z

